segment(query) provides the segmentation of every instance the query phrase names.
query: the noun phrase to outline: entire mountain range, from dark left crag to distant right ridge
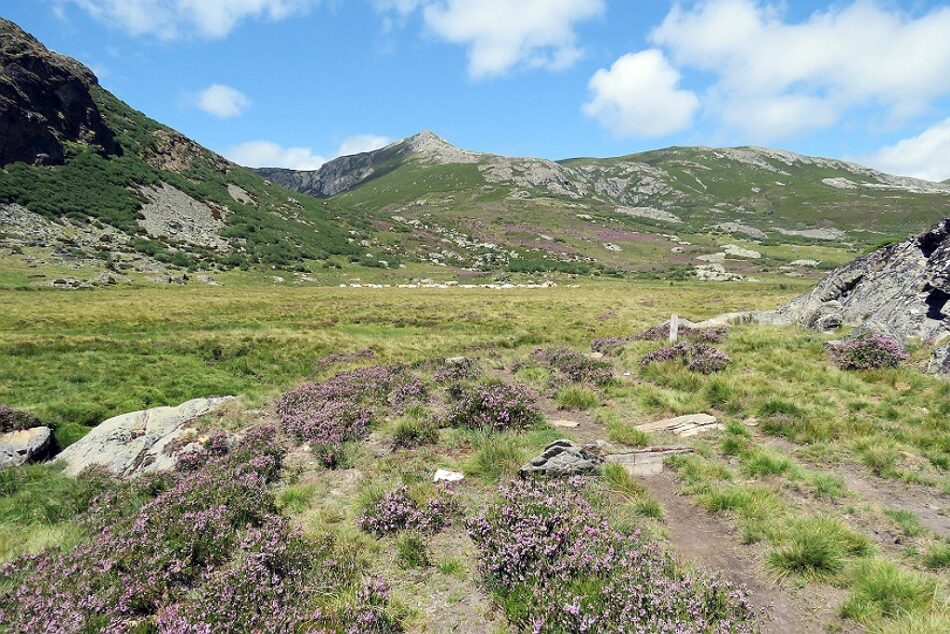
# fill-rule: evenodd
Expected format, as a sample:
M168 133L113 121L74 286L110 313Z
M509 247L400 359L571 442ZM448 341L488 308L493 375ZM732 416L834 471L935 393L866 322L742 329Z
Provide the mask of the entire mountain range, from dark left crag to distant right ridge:
M255 171L129 107L2 19L0 139L5 284L235 268L327 280L369 267L396 269L388 279L815 277L923 229L950 202L946 184L780 150L550 161L471 152L432 132L313 172Z

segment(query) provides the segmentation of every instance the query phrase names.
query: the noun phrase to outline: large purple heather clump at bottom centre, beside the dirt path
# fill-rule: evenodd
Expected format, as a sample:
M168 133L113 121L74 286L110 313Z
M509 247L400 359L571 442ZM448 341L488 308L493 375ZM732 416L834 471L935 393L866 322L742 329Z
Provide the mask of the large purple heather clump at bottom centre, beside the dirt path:
M468 529L485 580L525 631L757 631L743 589L613 530L579 480L509 484Z

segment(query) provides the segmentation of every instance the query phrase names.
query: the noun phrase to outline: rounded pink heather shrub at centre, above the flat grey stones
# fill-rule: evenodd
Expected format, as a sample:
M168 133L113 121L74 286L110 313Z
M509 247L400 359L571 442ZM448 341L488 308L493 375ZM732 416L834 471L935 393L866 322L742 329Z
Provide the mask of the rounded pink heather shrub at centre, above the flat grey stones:
M463 389L446 423L469 429L525 429L541 421L541 412L520 385L479 385Z

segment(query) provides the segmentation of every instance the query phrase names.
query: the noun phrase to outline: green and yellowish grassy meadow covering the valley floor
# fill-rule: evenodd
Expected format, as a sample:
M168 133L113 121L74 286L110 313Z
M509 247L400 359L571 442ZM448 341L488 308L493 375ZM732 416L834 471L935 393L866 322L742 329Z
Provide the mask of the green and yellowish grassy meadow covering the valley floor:
M911 349L897 368L845 371L825 349L834 336L737 325L715 344L729 359L721 371L690 370L675 359L644 365L662 344L631 335L672 313L699 320L774 307L809 283L570 283L531 290L234 283L0 291L0 403L48 421L68 444L114 414L242 395L239 407L204 424L234 430L279 421L295 439L282 470L268 474L268 492L255 495L271 496L262 502L265 515L284 518L306 539L332 539L353 562L316 601L331 621L345 621L353 605L372 613L378 629L367 631L465 624L503 632L530 623L570 631L580 622L572 619L582 617L620 623L629 606L596 597L647 586L641 607L660 627L699 609L677 594L684 583L728 631L948 629L950 383L917 369L925 351ZM602 359L584 356L592 344L604 350ZM451 377L440 360L460 355L473 359L472 371ZM399 367L411 376L373 374L388 393L364 393L353 385L371 382L350 375L333 379L393 364L407 364ZM279 399L305 381L317 387L301 393L304 400L349 386L343 391L357 396L347 406L371 412L365 430L322 446L323 428L291 415L298 397ZM472 414L472 390L507 385L521 391L501 401L523 394L536 416L486 427ZM395 394L411 398L404 403ZM697 412L717 416L724 429L682 439L635 428ZM553 427L557 419L578 425ZM610 467L569 493L508 484L560 437L628 448L686 443L694 452L655 478ZM451 504L431 483L437 468L465 474ZM84 513L113 486L46 465L4 472L0 555L87 547L97 527ZM130 508L115 512L134 513L156 494L133 491ZM535 498L561 500L558 513L539 516ZM501 519L512 516L522 523ZM605 522L596 538L565 533L590 544L595 561L570 553L555 563L528 552L496 556L512 540L524 542L538 522ZM625 576L632 561L648 574ZM768 608L768 616L750 625L744 603L723 599L728 586L691 576L694 570L747 587L750 609ZM555 581L512 582L525 571ZM386 600L360 594L359 577L385 578L385 593L366 596ZM2 593L11 581L0 581ZM181 610L207 609L183 601ZM552 605L571 607L562 614ZM329 631L344 631L335 623ZM594 631L614 631L603 623Z

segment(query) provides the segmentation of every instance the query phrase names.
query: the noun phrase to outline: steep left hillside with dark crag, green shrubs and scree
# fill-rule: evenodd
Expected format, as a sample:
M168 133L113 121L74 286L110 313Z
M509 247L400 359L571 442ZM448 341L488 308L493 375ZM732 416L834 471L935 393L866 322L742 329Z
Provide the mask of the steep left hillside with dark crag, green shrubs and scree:
M358 219L149 119L3 19L0 138L4 264L160 277L359 259Z

